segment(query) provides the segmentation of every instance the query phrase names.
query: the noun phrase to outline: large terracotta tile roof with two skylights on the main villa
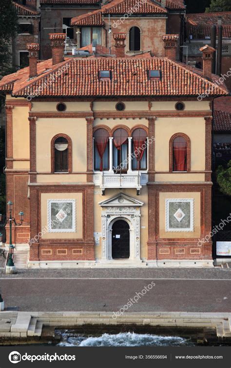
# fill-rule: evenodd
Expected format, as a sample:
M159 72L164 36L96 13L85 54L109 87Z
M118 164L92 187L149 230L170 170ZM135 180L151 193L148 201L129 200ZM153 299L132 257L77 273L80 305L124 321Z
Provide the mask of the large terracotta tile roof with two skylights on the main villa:
M68 65L65 73L64 65ZM111 70L112 79L99 80L100 70ZM161 70L161 79L150 80L149 70ZM214 83L219 77L212 76L214 80L209 81L201 73L168 58L68 58L53 66L50 59L38 64L38 77L33 79L28 80L28 68L3 77L0 90L14 82L14 96L33 95L39 90L39 96L66 97L196 96L206 90L210 96L228 94L224 86Z

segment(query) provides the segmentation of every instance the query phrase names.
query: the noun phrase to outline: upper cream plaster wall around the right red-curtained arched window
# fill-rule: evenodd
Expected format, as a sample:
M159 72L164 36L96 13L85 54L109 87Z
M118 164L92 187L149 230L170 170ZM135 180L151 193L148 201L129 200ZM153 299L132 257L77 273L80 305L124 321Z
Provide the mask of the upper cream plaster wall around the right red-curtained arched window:
M169 140L175 133L191 140L191 170L205 170L205 119L159 117L155 121L155 171L169 171Z

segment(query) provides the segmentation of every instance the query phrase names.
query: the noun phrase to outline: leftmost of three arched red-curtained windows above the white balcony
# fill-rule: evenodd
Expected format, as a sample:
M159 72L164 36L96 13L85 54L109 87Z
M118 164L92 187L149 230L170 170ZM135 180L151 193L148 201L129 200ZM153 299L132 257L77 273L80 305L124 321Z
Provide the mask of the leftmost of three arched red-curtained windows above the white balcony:
M109 133L103 128L94 133L94 169L109 170Z

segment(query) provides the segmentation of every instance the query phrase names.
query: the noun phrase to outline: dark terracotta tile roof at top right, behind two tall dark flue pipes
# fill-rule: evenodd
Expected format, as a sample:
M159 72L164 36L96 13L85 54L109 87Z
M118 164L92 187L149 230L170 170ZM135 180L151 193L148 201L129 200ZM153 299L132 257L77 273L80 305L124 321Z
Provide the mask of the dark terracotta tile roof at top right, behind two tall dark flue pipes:
M222 17L223 37L231 38L231 12L187 14L188 36L194 39L210 37L211 26L217 24L218 16Z

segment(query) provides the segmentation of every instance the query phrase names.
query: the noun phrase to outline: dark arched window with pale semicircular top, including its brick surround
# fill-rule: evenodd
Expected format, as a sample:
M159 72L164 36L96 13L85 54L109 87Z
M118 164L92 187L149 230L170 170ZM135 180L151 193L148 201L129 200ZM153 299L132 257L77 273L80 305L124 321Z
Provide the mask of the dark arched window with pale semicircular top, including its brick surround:
M65 134L58 134L51 141L51 172L72 172L72 143Z

